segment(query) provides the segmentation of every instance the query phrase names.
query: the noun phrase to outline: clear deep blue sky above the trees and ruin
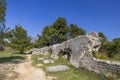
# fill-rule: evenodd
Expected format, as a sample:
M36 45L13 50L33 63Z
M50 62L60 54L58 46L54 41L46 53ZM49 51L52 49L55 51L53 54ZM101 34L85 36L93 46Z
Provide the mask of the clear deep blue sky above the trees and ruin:
M21 24L36 37L58 17L91 31L103 32L109 40L120 37L120 0L7 0L6 23Z

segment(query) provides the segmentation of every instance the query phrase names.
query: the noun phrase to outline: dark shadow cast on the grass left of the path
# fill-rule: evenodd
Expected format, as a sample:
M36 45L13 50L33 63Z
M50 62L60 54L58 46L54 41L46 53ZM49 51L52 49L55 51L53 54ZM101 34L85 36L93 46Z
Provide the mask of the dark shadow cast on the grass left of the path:
M19 63L24 59L25 58L22 56L0 57L0 63L7 63L7 62Z

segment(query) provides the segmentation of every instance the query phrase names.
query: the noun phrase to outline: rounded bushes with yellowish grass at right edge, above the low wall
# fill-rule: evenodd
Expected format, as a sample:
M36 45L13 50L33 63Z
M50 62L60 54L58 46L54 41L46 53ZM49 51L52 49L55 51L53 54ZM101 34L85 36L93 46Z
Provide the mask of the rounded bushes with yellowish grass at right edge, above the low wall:
M93 56L99 59L120 61L120 38L112 42L103 41L99 52L93 52Z

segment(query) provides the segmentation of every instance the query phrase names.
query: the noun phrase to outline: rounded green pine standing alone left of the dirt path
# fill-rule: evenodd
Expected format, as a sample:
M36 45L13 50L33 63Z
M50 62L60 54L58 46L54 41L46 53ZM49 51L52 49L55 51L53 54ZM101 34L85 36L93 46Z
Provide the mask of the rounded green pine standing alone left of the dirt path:
M21 25L16 25L9 32L9 41L12 48L24 53L24 50L31 45L31 37L27 35L27 31Z

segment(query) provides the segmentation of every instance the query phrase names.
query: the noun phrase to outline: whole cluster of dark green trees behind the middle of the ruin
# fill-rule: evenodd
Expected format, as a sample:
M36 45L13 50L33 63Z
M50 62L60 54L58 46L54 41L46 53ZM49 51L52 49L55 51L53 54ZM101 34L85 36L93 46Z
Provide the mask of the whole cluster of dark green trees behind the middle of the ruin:
M62 43L68 40L69 37L74 38L78 35L84 35L85 30L78 28L76 25L67 25L65 18L59 17L51 26L46 26L42 34L36 40L37 47Z

